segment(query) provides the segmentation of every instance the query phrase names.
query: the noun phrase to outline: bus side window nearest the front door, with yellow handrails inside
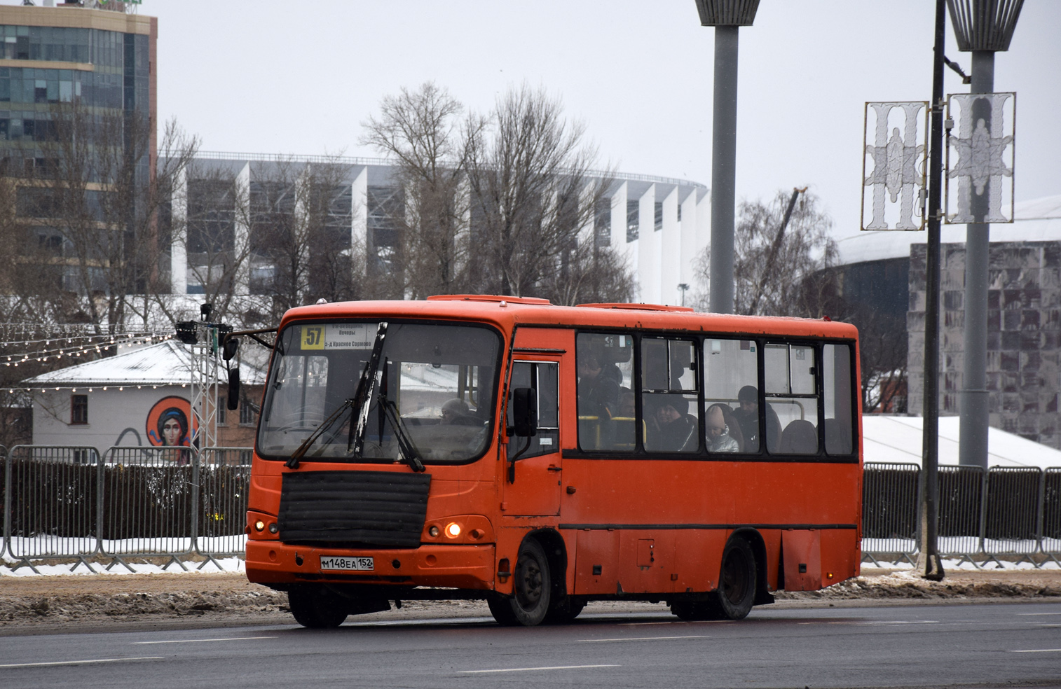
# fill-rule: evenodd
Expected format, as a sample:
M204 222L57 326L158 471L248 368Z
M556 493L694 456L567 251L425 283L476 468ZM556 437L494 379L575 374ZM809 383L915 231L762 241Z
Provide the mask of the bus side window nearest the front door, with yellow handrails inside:
M579 333L578 446L588 450L633 452L633 338Z

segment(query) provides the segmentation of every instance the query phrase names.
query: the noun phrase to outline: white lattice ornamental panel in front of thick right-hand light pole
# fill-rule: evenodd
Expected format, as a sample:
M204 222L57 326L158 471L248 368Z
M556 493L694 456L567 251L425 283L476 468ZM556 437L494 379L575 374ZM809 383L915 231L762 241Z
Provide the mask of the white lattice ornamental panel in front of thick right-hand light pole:
M1015 114L1016 93L947 98L945 223L1013 222Z

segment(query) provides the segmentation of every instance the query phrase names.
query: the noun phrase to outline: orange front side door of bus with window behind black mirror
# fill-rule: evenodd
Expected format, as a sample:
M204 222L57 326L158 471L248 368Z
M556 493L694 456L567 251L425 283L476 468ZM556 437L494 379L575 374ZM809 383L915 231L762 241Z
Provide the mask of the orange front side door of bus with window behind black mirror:
M512 361L507 425L512 425L512 390L534 388L538 393L538 434L508 438L503 508L506 516L560 513L559 368L559 357Z

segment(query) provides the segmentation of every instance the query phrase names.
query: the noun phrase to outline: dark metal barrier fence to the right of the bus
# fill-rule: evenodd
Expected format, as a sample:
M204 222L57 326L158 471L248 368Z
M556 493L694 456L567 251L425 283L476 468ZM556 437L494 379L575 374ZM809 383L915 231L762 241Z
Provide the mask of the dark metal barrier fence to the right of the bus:
M918 551L917 464L867 462L863 478L863 559L912 562ZM988 562L1061 564L1061 467L939 467L941 555Z

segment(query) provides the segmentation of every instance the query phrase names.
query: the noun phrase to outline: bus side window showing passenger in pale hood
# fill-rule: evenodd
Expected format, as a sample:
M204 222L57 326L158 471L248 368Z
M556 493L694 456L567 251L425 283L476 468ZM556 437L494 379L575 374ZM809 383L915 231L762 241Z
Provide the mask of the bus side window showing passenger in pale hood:
M759 346L754 340L703 340L703 402L708 452L759 453ZM725 428L717 428L718 408ZM736 441L732 449L721 436Z

